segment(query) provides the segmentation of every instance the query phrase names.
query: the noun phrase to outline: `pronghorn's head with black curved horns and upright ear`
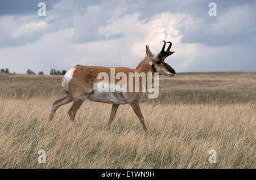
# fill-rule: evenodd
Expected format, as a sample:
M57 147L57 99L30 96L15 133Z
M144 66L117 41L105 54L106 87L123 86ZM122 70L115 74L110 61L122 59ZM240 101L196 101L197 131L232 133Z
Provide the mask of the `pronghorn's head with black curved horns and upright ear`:
M150 65L153 67L155 72L159 72L160 75L167 75L171 77L171 76L174 76L176 72L170 65L164 62L164 59L174 53L174 52L170 52L172 43L166 42L166 41L163 41L163 42L164 42L163 48L158 55L151 53L150 49L148 48L148 45L146 46L146 53L147 53ZM167 50L164 51L164 48L166 48L166 43L170 43L170 45L168 46Z

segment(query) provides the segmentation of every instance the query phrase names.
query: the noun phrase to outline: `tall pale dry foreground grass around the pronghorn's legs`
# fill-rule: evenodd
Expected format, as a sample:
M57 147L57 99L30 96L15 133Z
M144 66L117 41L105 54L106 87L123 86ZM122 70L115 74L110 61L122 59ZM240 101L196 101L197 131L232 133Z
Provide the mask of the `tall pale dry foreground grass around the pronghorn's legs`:
M256 168L254 104L141 104L148 133L128 105L110 130L109 104L71 104L47 118L56 97L0 99L0 168ZM46 164L38 151L46 151ZM208 162L210 149L217 163Z

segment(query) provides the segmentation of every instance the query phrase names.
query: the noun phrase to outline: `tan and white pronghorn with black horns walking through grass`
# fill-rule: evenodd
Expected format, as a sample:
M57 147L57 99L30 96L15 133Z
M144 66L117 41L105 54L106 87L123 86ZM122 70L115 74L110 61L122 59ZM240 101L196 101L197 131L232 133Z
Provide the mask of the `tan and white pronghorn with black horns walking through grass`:
M115 67L115 74L118 72L124 72L126 75L128 75L129 72L158 72L160 75L167 75L170 77L174 76L175 70L164 62L166 57L174 53L170 52L172 43L166 41L163 42L164 45L158 55L152 54L148 46L146 46L146 57L141 61L141 63L139 63L137 68ZM170 45L165 51L166 43L169 43ZM141 121L144 130L147 131L147 127L139 107L139 100L141 99L143 92L99 92L97 89L97 83L100 82L100 79L97 79L97 76L100 72L106 72L110 75L110 67L77 66L68 70L64 75L62 82L62 87L66 95L65 97L53 102L49 121L51 121L53 114L60 106L73 101L73 105L68 111L69 117L73 122L77 110L86 99L89 99L92 101L113 104L107 128L109 128L112 123L119 105L129 104L139 118L139 121Z

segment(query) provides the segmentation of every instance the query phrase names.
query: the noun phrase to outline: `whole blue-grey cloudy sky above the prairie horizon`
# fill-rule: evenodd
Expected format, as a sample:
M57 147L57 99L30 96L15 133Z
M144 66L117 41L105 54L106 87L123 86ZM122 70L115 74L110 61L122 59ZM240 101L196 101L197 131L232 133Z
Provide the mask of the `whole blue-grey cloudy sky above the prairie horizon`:
M255 10L256 1L233 0L0 1L0 68L135 68L146 45L157 54L166 40L175 50L166 62L177 72L256 71Z

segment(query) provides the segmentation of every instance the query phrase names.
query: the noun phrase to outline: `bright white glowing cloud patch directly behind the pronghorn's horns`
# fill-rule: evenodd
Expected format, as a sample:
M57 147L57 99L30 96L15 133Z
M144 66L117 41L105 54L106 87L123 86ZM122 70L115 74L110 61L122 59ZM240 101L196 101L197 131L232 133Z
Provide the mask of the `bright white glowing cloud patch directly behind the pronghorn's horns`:
M139 19L139 16L139 14L126 15L99 29L102 35L111 35L112 33L125 35L116 40L113 44L115 47L112 47L119 49L119 61L123 66L137 66L139 60L146 55L146 45L150 46L151 52L159 53L163 45L162 40L172 41L172 49L175 50L175 54L170 59L184 57L183 51L189 49L190 46L181 45L182 35L179 28L180 22L191 23L192 19L189 15L162 13L152 16L147 21ZM106 44L106 46L109 45ZM183 62L187 59L183 58Z

